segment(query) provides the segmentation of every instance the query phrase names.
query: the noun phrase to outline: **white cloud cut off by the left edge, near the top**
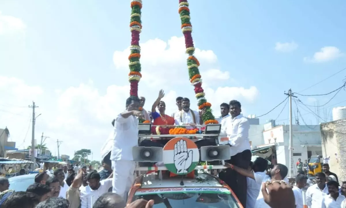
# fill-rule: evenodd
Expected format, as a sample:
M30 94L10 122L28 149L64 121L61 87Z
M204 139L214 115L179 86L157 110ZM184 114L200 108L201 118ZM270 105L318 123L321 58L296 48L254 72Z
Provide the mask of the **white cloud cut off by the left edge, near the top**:
M0 35L23 32L25 28L26 26L21 19L13 16L2 15L0 12Z

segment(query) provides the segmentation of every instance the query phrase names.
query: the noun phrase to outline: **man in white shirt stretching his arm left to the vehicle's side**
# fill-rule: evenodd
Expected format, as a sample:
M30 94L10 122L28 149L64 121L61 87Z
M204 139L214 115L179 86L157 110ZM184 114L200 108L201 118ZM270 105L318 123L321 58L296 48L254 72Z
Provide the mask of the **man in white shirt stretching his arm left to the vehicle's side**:
M237 173L244 175L246 177L252 178L256 181L258 184L266 183L266 182L274 182L274 181L282 181L284 180L285 183L289 183L288 179L286 178L288 173L288 168L283 164L276 164L272 168L269 175L267 175L265 172L256 172L253 173L247 169L237 167L233 164L226 163L226 167L230 168L231 170L236 171ZM234 191L234 189L233 189ZM238 197L238 196L237 196ZM239 197L238 197L239 198ZM245 207L245 206L243 206ZM267 203L265 203L263 199L262 190L259 191L258 197L256 199L256 205L255 208L270 208Z

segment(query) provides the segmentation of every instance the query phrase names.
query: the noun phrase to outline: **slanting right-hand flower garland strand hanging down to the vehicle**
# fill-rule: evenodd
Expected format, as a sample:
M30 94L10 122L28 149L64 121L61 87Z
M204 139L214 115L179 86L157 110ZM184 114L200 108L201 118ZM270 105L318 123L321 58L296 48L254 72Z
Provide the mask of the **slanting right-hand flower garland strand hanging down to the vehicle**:
M189 78L191 84L194 86L195 97L197 98L197 105L200 110L203 109L202 119L205 124L218 123L212 114L211 104L207 102L205 93L202 88L202 79L199 73L199 61L194 57L194 45L191 36L192 25L190 22L190 9L187 0L179 0L179 15L181 20L181 29L185 38L186 53L189 54L187 65L189 70Z

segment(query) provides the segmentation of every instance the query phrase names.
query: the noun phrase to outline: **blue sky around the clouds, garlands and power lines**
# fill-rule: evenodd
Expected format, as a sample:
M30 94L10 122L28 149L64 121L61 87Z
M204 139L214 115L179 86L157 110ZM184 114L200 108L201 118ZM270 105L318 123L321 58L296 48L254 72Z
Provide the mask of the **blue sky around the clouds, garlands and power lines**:
M66 129L63 125L56 124L58 121L64 121L64 119L61 120L62 118L53 115L60 112L57 110L59 106L62 112L74 116L78 114L80 120L89 121L87 124L90 125L90 128L97 126L98 130L94 130L96 137L104 138L106 135L107 138L108 130L101 127L109 125L107 124L108 120L101 119L102 121L99 120L97 124L93 123L95 118L100 119L102 117L102 113L89 116L85 115L87 113L77 112L79 107L76 105L83 106L83 109L89 98L83 99L83 102L78 101L77 98L81 96L78 94L79 91L72 90L74 92L74 94L72 93L74 95L72 96L73 102L69 101L70 105L68 105L66 104L68 102L63 102L63 99L67 99L67 95L64 94L66 90L70 87L78 88L81 83L92 88L90 92L95 93L93 90L97 89L100 96L107 94L107 88L111 85L128 85L126 75L128 71L117 68L113 55L115 51L123 52L130 44L129 2L119 0L102 1L102 3L91 0L83 1L83 3L66 0L58 2L44 0L0 2L0 15L18 18L25 25L17 33L0 33L1 76L14 77L23 81L27 86L37 86L43 90L42 93L22 100L13 91L9 91L8 86L2 86L1 92L6 96L6 99L0 101L0 110L2 110L0 116L11 119L5 121L1 119L0 124L1 126L7 125L10 130L13 129L12 139L14 141L22 143L29 124L30 109L18 107L29 105L34 98L37 100L36 102L39 102L40 108L41 106L44 108L42 111L45 112L42 114L44 122L39 123L37 121L36 138L42 131L54 135L54 140L57 139L56 137L62 140L75 138L80 133L76 129ZM313 1L312 3L311 1L225 0L212 3L206 0L190 0L189 3L195 47L201 50L211 50L217 57L217 60L211 61L206 58L207 61L204 61L206 68L202 68L201 71L204 70L207 74L209 69L218 69L229 74L229 79L210 81L208 87L211 89L256 87L257 93L253 99L249 97L245 99L244 96L246 97L246 95L242 93L235 96L242 102L246 114L256 114L257 116L264 114L285 98L283 93L289 88L292 88L293 92L299 92L346 67L346 59L343 55L346 51L344 41L346 29L343 27L345 1ZM144 1L142 9L143 30L140 34L140 43L146 43L155 38L167 42L171 37L181 37L177 6L177 0ZM277 42L293 42L296 45L294 47L290 45L293 48L287 52L282 52L275 50ZM309 61L316 52L326 46L336 47L339 53L335 50L334 52L330 51L331 54L329 56L325 54L327 58L322 62ZM151 54L146 57L149 55ZM308 60L304 60L304 57L307 57ZM141 61L143 59L144 55ZM201 65L202 63L201 61ZM157 69L155 68L157 73L155 71L148 76L155 77L157 75L160 77L158 73L165 70L167 65L156 66L153 63L152 66L157 67ZM185 69L179 70L184 72ZM345 75L346 70L301 92L301 94L330 92L342 85ZM179 76L187 77L186 70L185 74L182 73ZM164 83L162 86L151 86L150 89L148 87L148 90L146 90L145 84L140 85L140 87L143 86L140 90L143 91L149 103L146 107L148 110L160 88L164 88L166 92L174 90L177 95L191 91L190 94L184 94L184 96L193 95L193 88L188 83L175 85L170 79L165 80ZM119 89L115 91L119 92ZM148 95L145 92L150 93ZM217 102L221 102L223 99L228 102L231 96L227 95L227 90L222 92L224 94L217 94ZM125 94L127 93L125 92ZM175 94L171 95L173 97ZM342 90L326 106L333 107L333 104L336 103L339 103L336 106L345 105L344 95L345 92ZM315 98L322 105L331 96L310 97L309 99L299 96L299 99L305 104L316 105L313 102ZM71 96L67 97L71 98ZM96 95L93 98L100 100ZM342 101L344 102L340 103ZM124 103L122 100L112 102L120 103L119 106ZM65 107L60 105L62 103L65 104L65 107L69 107L66 109L67 112L63 110ZM211 103L213 104L213 102ZM219 104L214 104L216 109ZM89 111L93 112L93 105L90 105L88 106ZM264 123L265 119L275 119L282 108L283 105L272 113L263 116L261 123ZM304 110L303 106L300 106L299 109L308 124L316 124L317 121L313 114L308 114L308 110ZM331 107L326 109L321 107L321 109L322 118L324 117L323 111L331 111ZM219 112L215 114L219 114ZM69 118L71 125L73 125L72 120L74 120L72 117ZM277 120L283 120L279 123L288 123L287 118L288 105ZM56 125L52 127L50 124L54 122ZM10 123L12 125L9 125ZM83 126L89 128L84 124ZM16 133L17 130L24 133ZM56 131L62 132L56 133ZM30 140L30 133L28 135L25 144ZM78 141L75 139L73 145L77 145ZM53 149L54 154L55 143L49 142L48 146ZM67 145L69 140L66 139L64 143L65 146L62 145L62 148L66 149L66 154L73 154L71 150L73 148ZM91 143L97 144L94 141ZM101 145L97 146L97 148L100 147ZM84 148L83 145L80 148ZM76 150L80 148L75 147ZM97 154L99 150L95 147L94 151Z

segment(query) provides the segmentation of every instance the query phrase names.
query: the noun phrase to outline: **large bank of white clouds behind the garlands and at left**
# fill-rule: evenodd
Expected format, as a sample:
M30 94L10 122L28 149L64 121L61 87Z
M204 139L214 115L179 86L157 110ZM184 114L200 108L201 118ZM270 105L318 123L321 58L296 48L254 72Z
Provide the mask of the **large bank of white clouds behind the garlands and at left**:
M149 40L141 44L141 63L143 79L139 85L139 95L146 97L145 109L150 111L151 105L158 95L158 90L165 90L166 113L171 114L176 111L175 98L177 96L189 97L191 108L197 109L197 101L194 99L193 86L188 80L186 68L186 54L184 54L184 41L182 38L172 37L168 44L162 40ZM116 70L128 71L129 50L116 51L113 61ZM219 115L219 105L229 102L231 99L238 99L240 102L252 102L258 95L256 87L219 87L222 81L224 86L230 86L230 72L221 71L218 66L217 56L213 51L196 49L196 57L201 63L201 74L203 80L208 85L204 85L206 97L212 103L215 115ZM106 75L107 76L107 75ZM129 84L125 86L108 86L106 92L98 89L92 81L81 83L79 86L71 86L67 89L56 89L43 96L42 90L38 87L26 86L17 79L4 78L4 83L0 82L0 93L8 90L8 100L16 103L18 96L28 96L34 99L35 96L26 94L26 91L36 91L37 103L42 113L40 119L36 121L36 138L40 138L40 133L44 131L51 137L47 139L48 147L53 154L57 153L56 139L63 141L60 146L60 154L73 156L74 150L81 148L91 149L94 152L93 159L100 159L100 148L103 141L111 131L111 121L117 113L125 108L125 99L129 95ZM124 77L127 79L127 77ZM8 81L12 80L12 81ZM21 86L20 88L18 87ZM30 90L31 89L31 90ZM33 90L35 89L35 90ZM20 91L22 94L15 93ZM103 93L102 93L103 92ZM49 97L51 96L51 97ZM4 98L5 99L5 98ZM19 99L19 98L18 98ZM36 98L35 98L36 100ZM18 102L20 105L28 105L31 100ZM1 103L1 102L0 102ZM27 114L30 109L26 108ZM0 117L2 113L0 112ZM13 138L20 143L22 139L17 132L28 127L28 117L20 123L0 121L1 125L8 125L13 129ZM20 128L19 128L20 127ZM17 131L18 129L18 131ZM26 131L26 129L25 129ZM26 144L30 143L30 131L26 139Z

